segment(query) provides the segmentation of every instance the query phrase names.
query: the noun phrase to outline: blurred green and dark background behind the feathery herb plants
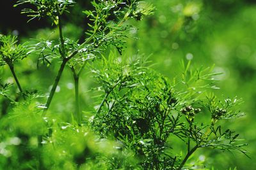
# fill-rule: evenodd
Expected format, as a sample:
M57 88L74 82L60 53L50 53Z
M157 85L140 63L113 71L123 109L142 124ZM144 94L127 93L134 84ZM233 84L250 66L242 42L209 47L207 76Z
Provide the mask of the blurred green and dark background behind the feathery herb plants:
M124 55L150 56L153 67L169 78L180 72L180 60L192 60L196 66L212 66L222 72L218 76L220 90L218 96L242 97L241 110L246 116L231 121L231 129L239 132L248 143L248 159L241 153L223 153L214 150L199 150L198 157L204 155L207 167L214 169L255 169L256 167L256 1L253 0L148 0L156 6L155 14L142 22L133 21L138 30L137 40L129 39ZM47 20L34 20L26 23L26 16L20 15L20 8L13 8L13 1L1 2L0 32L19 35L21 41L31 38L51 38L58 31ZM86 16L81 10L90 8L90 1L77 1L70 14L67 14L65 36L74 39L84 37L87 25ZM12 13L6 17L6 13ZM59 63L51 67L36 67L36 55L17 64L20 83L25 89L37 89L45 94L50 87ZM1 81L13 82L8 71L0 70ZM88 90L93 84L88 71L84 71L81 82L82 110L93 110L93 101ZM40 86L38 87L38 84ZM73 109L74 84L68 70L61 78L59 91L53 99L51 111L58 114ZM63 96L65 94L65 96ZM42 100L44 101L44 99ZM8 102L0 98L1 115L6 114Z

